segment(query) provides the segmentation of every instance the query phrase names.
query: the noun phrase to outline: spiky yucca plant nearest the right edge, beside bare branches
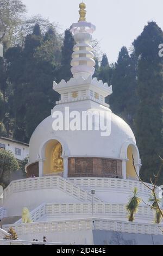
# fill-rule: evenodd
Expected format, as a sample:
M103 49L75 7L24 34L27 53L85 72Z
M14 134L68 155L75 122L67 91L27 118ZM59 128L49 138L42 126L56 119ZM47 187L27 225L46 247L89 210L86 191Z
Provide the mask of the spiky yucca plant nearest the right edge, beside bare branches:
M161 202L159 198L154 198L154 194L152 192L151 197L148 199L148 202L150 202L152 205L151 210L155 211L155 217L153 222L155 224L159 224L162 220L161 212L158 209L158 204Z

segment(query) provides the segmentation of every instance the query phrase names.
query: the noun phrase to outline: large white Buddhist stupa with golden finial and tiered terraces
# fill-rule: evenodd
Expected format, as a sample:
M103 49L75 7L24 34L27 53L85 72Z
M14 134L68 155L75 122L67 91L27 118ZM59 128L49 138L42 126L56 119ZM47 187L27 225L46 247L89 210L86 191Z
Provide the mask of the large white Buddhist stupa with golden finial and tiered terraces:
M145 202L149 190L135 175L132 156L137 173L141 160L133 131L105 103L112 88L92 78L95 60L90 42L95 26L86 22L85 8L81 3L79 22L71 26L77 43L73 78L54 82L61 100L52 115L59 111L65 117L65 107L81 114L109 113L110 136L102 137L96 130L54 131L52 115L43 120L29 144L27 175L36 178L12 181L3 192L0 239L13 227L19 239L28 241L46 236L48 242L63 244L161 244L163 225L153 224L153 212L146 204L141 203L134 222L127 218L133 188ZM23 214L30 211L32 223L22 223L23 208Z

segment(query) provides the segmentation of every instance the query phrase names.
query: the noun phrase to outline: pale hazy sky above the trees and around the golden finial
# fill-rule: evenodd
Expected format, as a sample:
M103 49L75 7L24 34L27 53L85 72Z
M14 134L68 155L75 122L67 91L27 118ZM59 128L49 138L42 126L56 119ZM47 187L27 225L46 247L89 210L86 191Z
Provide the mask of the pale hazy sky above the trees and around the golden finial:
M28 15L40 14L58 22L61 32L79 19L80 0L22 0ZM85 0L87 21L96 25L93 37L100 42L109 62L115 62L122 46L131 43L148 21L154 20L163 30L163 0ZM162 42L163 43L163 42Z

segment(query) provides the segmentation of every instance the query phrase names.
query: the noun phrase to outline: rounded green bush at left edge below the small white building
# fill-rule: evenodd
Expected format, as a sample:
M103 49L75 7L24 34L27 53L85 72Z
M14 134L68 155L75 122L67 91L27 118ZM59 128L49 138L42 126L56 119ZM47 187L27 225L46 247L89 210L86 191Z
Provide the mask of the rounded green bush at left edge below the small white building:
M0 183L7 186L11 172L18 170L18 162L10 151L0 149Z

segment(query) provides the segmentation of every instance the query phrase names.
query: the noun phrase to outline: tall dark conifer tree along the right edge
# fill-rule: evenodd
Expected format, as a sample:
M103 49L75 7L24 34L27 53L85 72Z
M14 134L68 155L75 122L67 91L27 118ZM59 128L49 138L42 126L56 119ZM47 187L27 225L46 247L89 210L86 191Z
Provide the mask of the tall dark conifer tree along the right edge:
M158 46L162 41L163 32L155 22L149 22L134 41L135 54L139 57L139 106L135 117L135 129L142 160L140 176L147 182L150 182L153 173L162 168L159 155L163 155L163 61L158 54ZM162 184L162 181L163 172L159 184Z

